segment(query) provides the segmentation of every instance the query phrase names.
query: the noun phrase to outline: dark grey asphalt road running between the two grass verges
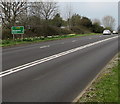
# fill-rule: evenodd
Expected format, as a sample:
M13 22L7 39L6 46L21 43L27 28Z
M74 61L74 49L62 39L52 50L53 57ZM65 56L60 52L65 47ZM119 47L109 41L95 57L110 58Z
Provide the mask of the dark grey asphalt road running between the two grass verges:
M2 77L3 101L73 101L118 52L116 36L85 36L3 49L3 72L25 65ZM46 57L49 60L40 60ZM34 64L29 65L31 62Z

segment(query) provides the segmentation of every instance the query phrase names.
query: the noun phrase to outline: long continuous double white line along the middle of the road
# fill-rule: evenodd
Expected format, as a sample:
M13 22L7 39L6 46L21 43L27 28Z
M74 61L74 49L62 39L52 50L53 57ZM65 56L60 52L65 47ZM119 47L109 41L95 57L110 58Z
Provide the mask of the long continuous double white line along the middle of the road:
M65 51L65 52L58 53L58 54L55 54L55 55L52 55L52 56L49 56L49 57L46 57L46 58L43 58L43 59L40 59L40 60L36 60L36 61L21 65L21 66L15 67L15 68L11 68L9 70L0 72L0 77L7 76L9 74L12 74L12 73L27 69L29 67L32 67L32 66L47 62L49 60L53 60L55 58L58 58L58 57L61 57L61 56L64 56L64 55L79 51L81 49L84 49L84 48L87 48L87 47L90 47L90 46L93 46L93 45L96 45L96 44L99 44L99 43L102 43L102 42L105 42L105 41L108 41L108 40L111 40L111 39L115 39L115 38L118 38L118 36L107 38L107 39L104 39L104 40L100 40L100 41L97 41L97 42L94 42L94 43L90 43L90 44L87 44L87 45L84 45L84 46L80 46L80 47L77 47L77 48L74 48L74 49L70 49L70 50Z

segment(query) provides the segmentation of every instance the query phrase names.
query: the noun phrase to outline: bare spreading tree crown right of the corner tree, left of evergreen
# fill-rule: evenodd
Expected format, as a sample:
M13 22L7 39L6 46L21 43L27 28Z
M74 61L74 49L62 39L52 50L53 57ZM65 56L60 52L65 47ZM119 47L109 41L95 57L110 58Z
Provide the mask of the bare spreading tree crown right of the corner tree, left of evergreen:
M31 2L29 5L29 14L30 16L35 16L40 19L49 20L53 18L57 12L58 7L56 2L47 1L47 2Z

